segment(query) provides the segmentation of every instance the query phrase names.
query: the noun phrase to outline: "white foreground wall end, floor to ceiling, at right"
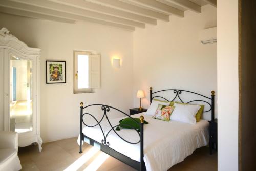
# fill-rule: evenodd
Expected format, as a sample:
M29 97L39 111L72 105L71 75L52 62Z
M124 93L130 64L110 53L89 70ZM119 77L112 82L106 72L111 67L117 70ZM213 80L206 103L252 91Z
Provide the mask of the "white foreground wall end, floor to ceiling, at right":
M218 170L238 170L238 0L218 0Z

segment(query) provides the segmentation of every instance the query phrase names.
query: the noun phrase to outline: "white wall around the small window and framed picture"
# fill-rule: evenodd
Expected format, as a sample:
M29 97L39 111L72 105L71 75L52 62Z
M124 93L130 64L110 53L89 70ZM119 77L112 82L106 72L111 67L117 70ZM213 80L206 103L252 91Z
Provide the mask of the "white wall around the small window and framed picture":
M132 32L78 22L63 24L0 14L0 27L28 46L41 49L40 118L44 142L79 134L79 106L92 103L113 105L129 112L132 97ZM73 94L73 50L94 50L101 54L101 89L96 93ZM112 56L121 58L114 69ZM66 61L67 83L46 84L47 60Z

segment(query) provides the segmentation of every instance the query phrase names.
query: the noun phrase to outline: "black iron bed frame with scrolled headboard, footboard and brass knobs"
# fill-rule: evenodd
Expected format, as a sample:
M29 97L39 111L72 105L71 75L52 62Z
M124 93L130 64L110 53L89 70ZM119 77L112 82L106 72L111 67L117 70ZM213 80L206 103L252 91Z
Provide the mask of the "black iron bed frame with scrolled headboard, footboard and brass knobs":
M209 105L210 109L207 110L207 111L203 111L203 112L209 112L211 111L211 121L214 120L214 101L215 101L215 91L211 91L211 97L206 97L204 95L201 95L201 94L198 94L198 93L195 93L195 92L191 92L191 91L187 91L187 90L180 90L180 89L166 89L166 90L160 90L160 91L156 91L156 92L152 92L152 87L150 87L150 103L152 102L152 100L154 98L162 98L166 101L169 101L168 99L162 97L162 96L153 96L153 94L156 94L156 93L159 93L159 92L163 92L163 91L173 91L173 93L175 94L175 97L171 100L171 101L174 101L176 98L178 98L182 103L191 103L191 102L195 102L195 101L200 101L200 102L205 102L206 104ZM188 101L188 102L184 102L181 97L180 97L180 94L182 92L187 92L187 93L192 93L192 94L195 94L195 95L198 95L198 96L201 96L201 97L204 97L206 99L209 99L211 100L211 103L205 101L205 100L192 100L192 101ZM101 117L101 119L98 121L92 114L90 113L83 113L83 110L84 109L87 109L87 108L90 108L90 106L101 106L101 110L104 112L103 113L103 116ZM116 109L112 106L109 106L109 105L105 105L105 104L91 104L91 105L87 105L87 106L84 106L83 107L83 103L81 102L80 103L80 150L79 150L79 153L82 153L82 141L84 141L85 139L89 139L90 141L90 145L94 145L94 143L97 143L100 145L100 149L101 151L109 154L110 156L122 161L123 163L127 164L127 165L130 165L131 167L137 169L137 170L146 170L145 168L145 163L144 163L144 160L143 160L143 157L144 157L144 153L143 153L143 142L144 142L144 138L143 138L143 134L144 134L144 130L143 130L143 127L144 127L144 117L143 116L140 116L140 123L136 122L134 119L134 121L136 123L138 123L138 125L140 126L140 132L138 130L136 130L134 127L132 129L134 129L138 135L139 135L139 141L138 142L130 142L130 141L127 141L125 140L124 138L122 138L116 131L115 131L115 128L118 126L118 125L115 125L113 126L108 118L108 112L110 112L110 110L113 109L113 110L116 110L124 115L126 115L127 117L133 119L130 115L120 111L119 109ZM84 115L89 115L91 116L95 121L96 121L96 124L95 125L87 125L85 122L84 122L84 119L83 119L83 116ZM103 118L106 117L106 120L108 121L108 123L110 124L111 126L111 129L108 131L108 133L104 134L104 131L102 130L102 127L100 125L101 121L103 120ZM86 125L88 127L94 127L94 126L97 126L99 125L100 129L101 129L101 132L103 134L103 139L101 140L101 143L99 143L98 141L90 138L90 137L87 137L86 135L83 134L82 132L82 126ZM129 125L130 126L130 125ZM121 154L117 151L115 151L114 149L110 148L109 145L110 143L106 140L109 133L111 131L114 131L114 133L120 137L123 141L127 142L127 143L130 143L130 144L138 144L140 143L140 161L141 162L138 162L136 160L133 160L127 156L125 156L124 154Z

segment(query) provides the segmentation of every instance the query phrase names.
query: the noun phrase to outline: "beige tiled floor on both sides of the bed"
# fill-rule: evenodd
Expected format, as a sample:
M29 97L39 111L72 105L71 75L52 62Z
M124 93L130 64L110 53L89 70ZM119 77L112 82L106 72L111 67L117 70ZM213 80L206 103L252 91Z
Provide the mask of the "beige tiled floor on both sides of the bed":
M22 170L134 170L86 143L83 144L83 153L79 154L76 140L77 138L70 138L44 143L42 152L39 152L38 146L34 145L19 148L18 156ZM207 147L197 149L169 171L217 170L217 153L209 155L208 149Z

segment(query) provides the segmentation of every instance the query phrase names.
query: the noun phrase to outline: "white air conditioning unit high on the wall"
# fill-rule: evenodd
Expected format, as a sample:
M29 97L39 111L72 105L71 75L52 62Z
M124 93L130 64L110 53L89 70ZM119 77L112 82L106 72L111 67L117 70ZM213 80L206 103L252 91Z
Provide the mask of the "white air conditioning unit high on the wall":
M217 42L217 27L203 29L199 32L201 44L210 44Z

